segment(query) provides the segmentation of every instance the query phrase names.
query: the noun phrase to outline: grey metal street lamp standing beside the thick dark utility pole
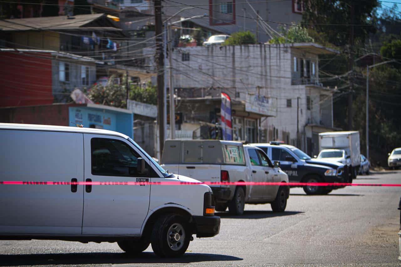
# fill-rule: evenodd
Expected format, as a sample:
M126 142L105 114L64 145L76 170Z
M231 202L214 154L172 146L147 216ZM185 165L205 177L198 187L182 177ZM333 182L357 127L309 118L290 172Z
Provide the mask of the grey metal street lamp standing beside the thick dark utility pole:
M172 75L172 40L171 40L171 25L184 22L186 20L190 20L193 18L203 18L207 16L207 14L192 16L190 18L184 18L182 20L177 20L167 24L167 38L168 38L168 70L169 70L169 83L168 86L170 88L170 139L175 139L175 106L174 106L174 85L173 85L173 75Z

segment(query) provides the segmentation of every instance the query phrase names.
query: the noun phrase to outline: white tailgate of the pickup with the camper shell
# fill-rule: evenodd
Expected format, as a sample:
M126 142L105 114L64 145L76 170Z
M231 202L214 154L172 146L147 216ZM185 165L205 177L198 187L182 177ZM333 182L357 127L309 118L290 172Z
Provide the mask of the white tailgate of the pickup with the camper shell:
M201 182L220 182L221 165L217 164L164 164L168 172L188 176Z

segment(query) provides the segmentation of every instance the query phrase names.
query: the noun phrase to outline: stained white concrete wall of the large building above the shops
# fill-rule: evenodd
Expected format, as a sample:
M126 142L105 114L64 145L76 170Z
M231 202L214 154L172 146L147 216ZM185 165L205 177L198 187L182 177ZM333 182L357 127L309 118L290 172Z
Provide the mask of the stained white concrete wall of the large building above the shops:
M189 53L189 61L182 61L183 53ZM291 84L294 55L318 60L317 55L291 48L288 44L177 48L172 54L174 87L205 88L205 91L220 87L232 99L245 102L247 94L270 97L277 101L277 112L274 117L262 118L261 128L267 129L268 141L274 137L287 142L289 134L290 144L296 144L299 98L298 130L300 146L304 148L304 126L320 123L321 95L330 96L331 93L317 86ZM169 75L168 70L165 75ZM235 97L236 92L239 97ZM307 96L311 99L310 110L307 109ZM287 107L287 99L291 99L291 107ZM273 129L277 132L274 136Z

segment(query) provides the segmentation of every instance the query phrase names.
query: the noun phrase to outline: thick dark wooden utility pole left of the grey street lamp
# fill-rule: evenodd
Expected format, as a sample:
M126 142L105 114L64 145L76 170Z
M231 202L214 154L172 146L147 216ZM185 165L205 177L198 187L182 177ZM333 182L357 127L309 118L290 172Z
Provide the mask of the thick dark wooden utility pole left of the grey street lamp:
M154 0L154 20L156 28L156 71L157 71L157 120L159 125L160 157L164 146L164 55L162 38L162 1Z

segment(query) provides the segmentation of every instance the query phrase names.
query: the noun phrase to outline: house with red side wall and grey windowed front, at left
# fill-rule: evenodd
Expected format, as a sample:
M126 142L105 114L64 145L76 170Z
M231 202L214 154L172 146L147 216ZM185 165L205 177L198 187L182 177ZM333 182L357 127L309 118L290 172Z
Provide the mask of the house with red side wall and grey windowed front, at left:
M64 52L0 49L0 107L65 102L96 81L95 59Z

